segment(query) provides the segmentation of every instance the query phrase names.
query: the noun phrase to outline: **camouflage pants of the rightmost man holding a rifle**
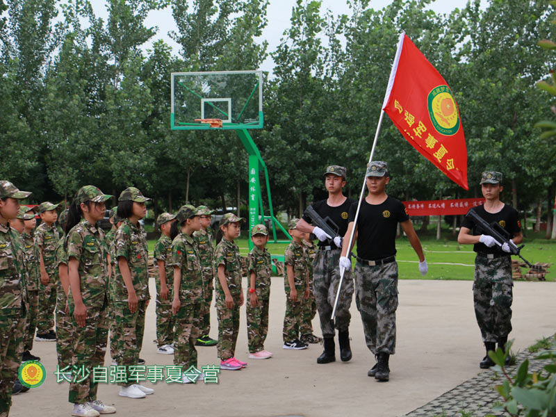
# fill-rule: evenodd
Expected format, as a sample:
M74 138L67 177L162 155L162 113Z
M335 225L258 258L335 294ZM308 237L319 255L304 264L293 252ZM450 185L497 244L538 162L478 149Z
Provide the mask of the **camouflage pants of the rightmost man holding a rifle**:
M512 286L509 256L475 258L473 304L483 342L497 342L512 332Z

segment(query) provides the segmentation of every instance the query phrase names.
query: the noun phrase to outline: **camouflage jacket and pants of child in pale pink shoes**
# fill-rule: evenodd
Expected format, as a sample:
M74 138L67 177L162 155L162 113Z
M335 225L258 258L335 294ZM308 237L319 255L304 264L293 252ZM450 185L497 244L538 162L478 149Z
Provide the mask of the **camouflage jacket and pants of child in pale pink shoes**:
M247 279L251 272L255 273L255 293L257 306L250 302L250 294L245 298L247 304L247 338L249 352L261 352L264 349L266 334L268 333L268 300L270 299L270 276L272 267L270 252L265 248L260 250L254 246L247 256Z

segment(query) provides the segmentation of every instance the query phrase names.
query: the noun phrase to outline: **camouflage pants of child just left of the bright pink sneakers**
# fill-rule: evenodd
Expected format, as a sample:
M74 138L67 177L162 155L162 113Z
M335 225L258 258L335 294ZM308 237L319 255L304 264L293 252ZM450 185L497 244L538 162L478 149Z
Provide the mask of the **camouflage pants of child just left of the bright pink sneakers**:
M176 343L174 347L174 365L181 366L185 372L190 366L197 368L197 349L195 342L199 338L199 322L202 304L181 305L176 314Z

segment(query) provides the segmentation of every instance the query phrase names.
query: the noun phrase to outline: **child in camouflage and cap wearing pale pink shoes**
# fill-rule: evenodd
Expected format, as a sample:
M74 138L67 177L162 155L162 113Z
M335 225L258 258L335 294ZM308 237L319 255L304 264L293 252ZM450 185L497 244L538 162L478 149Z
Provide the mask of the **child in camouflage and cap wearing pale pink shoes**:
M272 353L265 350L268 333L268 300L270 299L270 276L272 264L270 252L266 250L268 230L264 224L256 224L251 229L253 249L247 255L249 293L247 294L247 338L249 339L249 359L268 359Z

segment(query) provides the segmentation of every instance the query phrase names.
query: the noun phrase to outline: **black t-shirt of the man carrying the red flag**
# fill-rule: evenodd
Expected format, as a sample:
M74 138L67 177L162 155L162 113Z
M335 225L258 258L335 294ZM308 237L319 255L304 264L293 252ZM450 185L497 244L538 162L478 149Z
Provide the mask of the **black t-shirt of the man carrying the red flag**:
M357 203L350 208L350 222L355 220ZM409 220L400 200L386 197L382 204L368 204L363 199L357 218L357 256L370 261L395 255L398 223Z

